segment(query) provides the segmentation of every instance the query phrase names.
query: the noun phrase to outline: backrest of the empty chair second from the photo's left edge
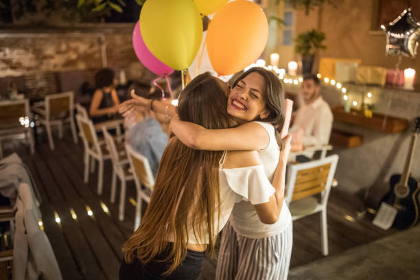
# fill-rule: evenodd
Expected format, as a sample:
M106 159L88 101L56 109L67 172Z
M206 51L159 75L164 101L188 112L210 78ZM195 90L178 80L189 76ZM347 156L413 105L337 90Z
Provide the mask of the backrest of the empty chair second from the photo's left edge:
M45 96L45 111L47 117L73 115L73 100L73 91Z

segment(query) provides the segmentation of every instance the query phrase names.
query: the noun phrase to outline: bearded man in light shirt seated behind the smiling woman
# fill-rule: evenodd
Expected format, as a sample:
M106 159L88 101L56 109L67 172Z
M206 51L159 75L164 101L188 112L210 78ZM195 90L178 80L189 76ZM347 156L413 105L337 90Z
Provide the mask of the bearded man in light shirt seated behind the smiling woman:
M320 96L320 81L316 75L303 78L301 86L301 106L294 117L291 132L292 141L299 141L303 147L327 145L331 135L333 115L327 102ZM296 157L296 161L308 161L314 152L304 152L305 156Z

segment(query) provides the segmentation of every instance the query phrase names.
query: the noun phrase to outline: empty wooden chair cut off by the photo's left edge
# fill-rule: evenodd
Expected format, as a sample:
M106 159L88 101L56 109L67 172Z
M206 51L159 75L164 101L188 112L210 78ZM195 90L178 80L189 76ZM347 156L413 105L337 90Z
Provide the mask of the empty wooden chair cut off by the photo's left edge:
M1 141L26 139L34 154L34 135L32 134L29 100L0 102L0 159L3 157Z

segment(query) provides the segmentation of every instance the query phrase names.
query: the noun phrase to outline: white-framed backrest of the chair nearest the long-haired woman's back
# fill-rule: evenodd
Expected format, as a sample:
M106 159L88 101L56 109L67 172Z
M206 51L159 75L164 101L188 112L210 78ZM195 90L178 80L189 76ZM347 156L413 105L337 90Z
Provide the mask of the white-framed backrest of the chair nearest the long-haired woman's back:
M126 143L126 152L128 161L130 161L130 167L135 175L135 180L138 180L138 183L141 183L141 185L144 185L149 189L153 189L154 176L152 174L152 170L150 169L148 159L135 150L132 150L130 144L128 143Z

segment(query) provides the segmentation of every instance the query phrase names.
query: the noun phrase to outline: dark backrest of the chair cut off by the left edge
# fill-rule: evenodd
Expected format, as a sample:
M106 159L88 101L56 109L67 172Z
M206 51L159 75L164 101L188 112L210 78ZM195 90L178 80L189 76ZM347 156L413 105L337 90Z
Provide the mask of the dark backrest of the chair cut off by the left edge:
M29 117L29 100L0 102L0 129L20 127L24 125L22 120Z

